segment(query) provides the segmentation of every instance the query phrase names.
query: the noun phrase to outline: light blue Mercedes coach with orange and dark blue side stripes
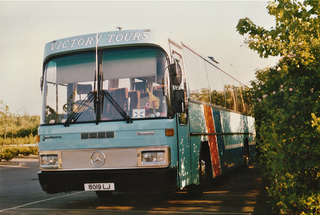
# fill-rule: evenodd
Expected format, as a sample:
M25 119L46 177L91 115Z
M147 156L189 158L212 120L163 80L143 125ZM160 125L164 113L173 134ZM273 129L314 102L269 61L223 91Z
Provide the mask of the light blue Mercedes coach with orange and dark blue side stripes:
M118 30L48 42L39 183L47 193L186 188L255 155L245 85L172 34Z

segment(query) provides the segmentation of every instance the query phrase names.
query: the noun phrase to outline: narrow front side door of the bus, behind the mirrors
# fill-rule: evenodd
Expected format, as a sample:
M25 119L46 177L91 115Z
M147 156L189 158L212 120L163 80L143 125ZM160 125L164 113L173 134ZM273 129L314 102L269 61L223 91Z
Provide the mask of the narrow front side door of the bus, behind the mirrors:
M169 40L170 41L170 40ZM178 172L179 172L179 187L183 188L192 183L191 178L191 153L190 153L190 138L188 126L188 110L187 110L187 95L184 75L184 63L182 57L182 47L170 41L171 62L178 63L181 67L182 81L175 89L184 90L184 110L182 113L176 113L177 117L177 144L178 144Z

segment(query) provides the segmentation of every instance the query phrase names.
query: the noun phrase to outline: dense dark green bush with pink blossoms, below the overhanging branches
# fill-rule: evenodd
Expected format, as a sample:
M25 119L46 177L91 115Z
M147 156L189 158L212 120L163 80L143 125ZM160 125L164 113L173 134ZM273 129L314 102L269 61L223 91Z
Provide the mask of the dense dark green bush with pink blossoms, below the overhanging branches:
M272 205L287 213L320 213L320 133L312 127L311 117L312 111L320 111L314 102L320 95L314 90L320 85L320 73L312 75L304 68L299 76L274 70L269 69L263 81L263 72L258 71L260 79L251 89L260 158L270 180L268 193ZM304 75L315 80L301 81Z

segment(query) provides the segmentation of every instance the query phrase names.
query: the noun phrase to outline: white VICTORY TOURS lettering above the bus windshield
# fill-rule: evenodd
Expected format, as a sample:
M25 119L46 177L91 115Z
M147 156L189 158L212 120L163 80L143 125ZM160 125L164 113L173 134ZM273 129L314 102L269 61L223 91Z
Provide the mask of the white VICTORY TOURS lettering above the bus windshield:
M135 41L135 40L147 40L149 39L150 31L141 32L130 32L130 33L116 33L116 34L108 34L106 36L106 42L120 42L120 41ZM103 35L98 36L89 36L86 38L76 38L76 39L67 39L64 41L53 41L51 43L51 51L52 50L59 50L60 48L72 48L74 45L85 46L85 45L92 45L99 44L100 39ZM101 40L102 41L102 40Z

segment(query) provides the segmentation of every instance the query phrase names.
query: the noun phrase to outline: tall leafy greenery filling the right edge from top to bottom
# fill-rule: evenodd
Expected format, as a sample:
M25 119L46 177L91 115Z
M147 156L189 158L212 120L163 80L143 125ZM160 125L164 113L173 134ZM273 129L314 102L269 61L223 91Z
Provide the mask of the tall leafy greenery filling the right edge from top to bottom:
M270 30L242 18L237 31L260 57L280 56L251 81L261 161L272 205L320 213L320 1L270 1Z

